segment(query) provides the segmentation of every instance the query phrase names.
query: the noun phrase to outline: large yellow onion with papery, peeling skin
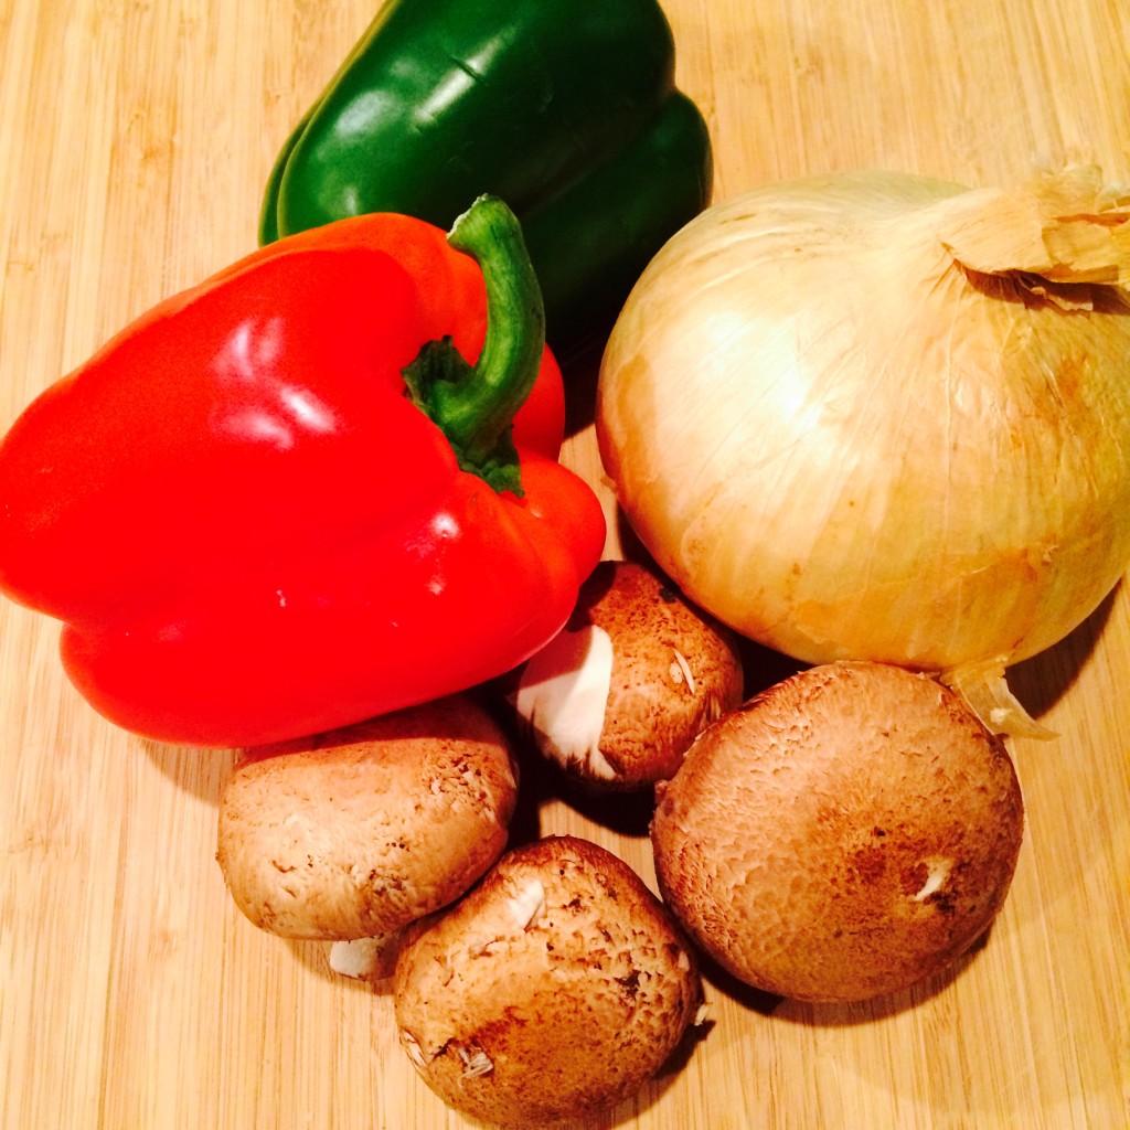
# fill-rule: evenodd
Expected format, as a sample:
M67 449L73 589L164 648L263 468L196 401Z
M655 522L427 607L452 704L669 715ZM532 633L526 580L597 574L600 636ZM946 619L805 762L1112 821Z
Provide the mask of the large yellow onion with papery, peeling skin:
M1130 563L1130 195L887 173L720 203L631 294L597 434L684 592L801 661L1005 669Z

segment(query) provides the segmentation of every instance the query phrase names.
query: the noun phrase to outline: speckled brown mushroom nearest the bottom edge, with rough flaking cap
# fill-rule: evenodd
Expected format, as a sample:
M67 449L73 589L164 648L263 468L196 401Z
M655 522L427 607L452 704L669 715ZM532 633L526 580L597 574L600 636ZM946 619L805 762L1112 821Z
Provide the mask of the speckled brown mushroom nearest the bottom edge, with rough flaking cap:
M702 1000L659 899L616 855L572 836L504 855L406 946L394 990L401 1043L427 1084L504 1127L635 1094Z

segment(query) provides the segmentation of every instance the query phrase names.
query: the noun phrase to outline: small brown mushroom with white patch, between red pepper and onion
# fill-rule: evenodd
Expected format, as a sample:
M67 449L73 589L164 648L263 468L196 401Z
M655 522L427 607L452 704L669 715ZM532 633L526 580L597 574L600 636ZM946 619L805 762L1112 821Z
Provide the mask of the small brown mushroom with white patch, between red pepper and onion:
M538 749L600 790L670 777L695 737L741 702L733 635L654 571L606 560L511 699Z

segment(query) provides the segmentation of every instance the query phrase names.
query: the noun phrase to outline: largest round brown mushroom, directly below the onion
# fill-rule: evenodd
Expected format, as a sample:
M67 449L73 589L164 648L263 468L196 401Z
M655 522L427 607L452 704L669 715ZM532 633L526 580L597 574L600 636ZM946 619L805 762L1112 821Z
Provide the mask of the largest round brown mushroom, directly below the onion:
M905 989L968 949L1023 836L1003 744L932 678L832 663L707 730L652 823L660 889L748 984L811 1001Z

